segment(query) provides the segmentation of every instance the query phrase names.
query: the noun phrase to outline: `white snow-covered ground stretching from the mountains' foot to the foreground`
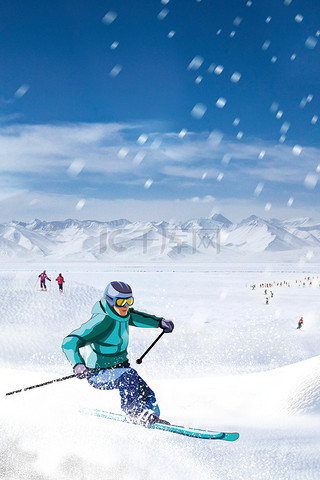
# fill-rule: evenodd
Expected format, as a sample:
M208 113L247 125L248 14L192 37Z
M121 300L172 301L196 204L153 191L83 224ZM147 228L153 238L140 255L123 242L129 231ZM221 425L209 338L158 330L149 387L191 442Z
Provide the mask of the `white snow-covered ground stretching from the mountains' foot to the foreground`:
M55 282L47 293L39 291L42 268L0 270L0 478L319 478L320 266L46 265L52 279L62 270L64 295ZM313 285L299 287L295 280L306 275ZM116 391L96 391L85 380L4 395L72 373L62 339L90 317L115 279L132 285L137 309L175 321L174 333L138 367L163 418L238 431L237 442L87 416L79 410L119 412L120 406ZM291 286L274 286L266 305L259 284L274 281ZM300 316L305 324L296 330ZM132 365L158 333L131 329Z

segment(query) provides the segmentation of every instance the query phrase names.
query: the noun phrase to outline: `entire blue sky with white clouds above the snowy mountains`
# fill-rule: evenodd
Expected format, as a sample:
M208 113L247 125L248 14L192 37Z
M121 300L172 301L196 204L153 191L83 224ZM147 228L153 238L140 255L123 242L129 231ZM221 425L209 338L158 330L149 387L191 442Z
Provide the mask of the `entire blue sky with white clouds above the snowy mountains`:
M316 0L3 0L0 220L317 216Z

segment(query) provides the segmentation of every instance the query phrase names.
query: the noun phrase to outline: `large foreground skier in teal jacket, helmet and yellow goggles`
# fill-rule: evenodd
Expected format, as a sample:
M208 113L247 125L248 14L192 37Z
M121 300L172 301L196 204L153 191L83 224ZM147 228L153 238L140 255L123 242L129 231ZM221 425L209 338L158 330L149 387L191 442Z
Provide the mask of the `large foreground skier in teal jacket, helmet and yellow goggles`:
M130 367L128 361L129 325L162 328L171 333L170 320L139 312L132 308L131 287L113 281L103 297L92 309L92 317L71 332L63 341L62 349L77 378L87 378L90 385L102 390L118 389L121 408L130 422L152 425L169 424L160 419L160 410L151 388ZM87 346L87 355L80 348Z

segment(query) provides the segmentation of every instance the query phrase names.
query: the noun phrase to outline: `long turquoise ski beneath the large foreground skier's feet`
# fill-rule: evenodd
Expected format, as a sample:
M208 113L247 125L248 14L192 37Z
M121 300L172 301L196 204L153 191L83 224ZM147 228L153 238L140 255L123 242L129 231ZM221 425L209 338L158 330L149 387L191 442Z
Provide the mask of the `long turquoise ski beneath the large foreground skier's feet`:
M150 428L153 430L164 430L166 432L177 433L186 437L201 438L204 440L226 440L228 442L234 442L238 440L239 433L234 432L214 432L211 430L203 430L200 428L182 427L180 425L164 425L162 423L155 423L153 425L141 425L139 423L128 422L124 415L112 412L105 412L104 410L81 410L83 413L89 415L95 415L96 417L103 417L109 420L115 420L117 422L129 423L131 425L139 425L144 428Z

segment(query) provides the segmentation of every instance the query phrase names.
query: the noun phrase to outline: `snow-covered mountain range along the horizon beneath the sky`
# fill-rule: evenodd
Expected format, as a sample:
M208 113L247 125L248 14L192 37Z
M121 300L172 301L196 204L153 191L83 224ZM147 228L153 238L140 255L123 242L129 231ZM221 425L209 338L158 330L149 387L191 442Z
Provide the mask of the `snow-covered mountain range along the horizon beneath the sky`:
M0 224L0 261L216 261L320 256L320 224L310 218L232 223L223 215L187 222L74 220Z

